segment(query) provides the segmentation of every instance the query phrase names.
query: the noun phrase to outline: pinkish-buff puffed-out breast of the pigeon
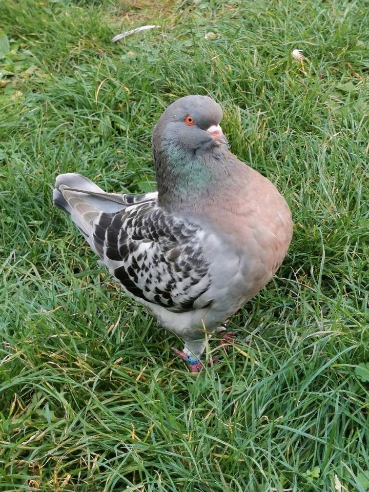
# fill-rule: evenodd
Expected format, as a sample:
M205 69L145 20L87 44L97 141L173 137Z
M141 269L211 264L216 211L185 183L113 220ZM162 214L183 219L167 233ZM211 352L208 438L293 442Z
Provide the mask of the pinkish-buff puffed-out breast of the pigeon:
M288 204L275 186L255 172L243 196L231 196L227 207L212 212L219 231L239 258L234 295L239 304L251 299L280 267L292 238Z

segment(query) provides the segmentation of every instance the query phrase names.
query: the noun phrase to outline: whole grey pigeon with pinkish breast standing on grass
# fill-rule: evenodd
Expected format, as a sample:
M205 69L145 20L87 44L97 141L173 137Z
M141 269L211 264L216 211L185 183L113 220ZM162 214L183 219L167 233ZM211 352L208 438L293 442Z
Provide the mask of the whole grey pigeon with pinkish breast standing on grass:
M67 212L124 292L179 336L191 372L208 338L263 288L292 239L276 187L229 150L214 99L174 101L152 133L157 191L107 193L60 174L54 204Z

